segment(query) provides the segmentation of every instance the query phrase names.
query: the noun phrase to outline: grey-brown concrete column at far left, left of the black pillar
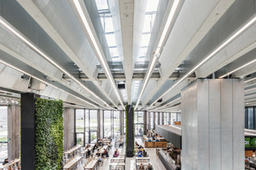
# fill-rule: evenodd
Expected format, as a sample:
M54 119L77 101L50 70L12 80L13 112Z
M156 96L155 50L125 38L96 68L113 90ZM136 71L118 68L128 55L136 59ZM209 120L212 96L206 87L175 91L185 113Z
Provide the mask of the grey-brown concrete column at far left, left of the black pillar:
M20 157L20 106L8 105L8 158Z

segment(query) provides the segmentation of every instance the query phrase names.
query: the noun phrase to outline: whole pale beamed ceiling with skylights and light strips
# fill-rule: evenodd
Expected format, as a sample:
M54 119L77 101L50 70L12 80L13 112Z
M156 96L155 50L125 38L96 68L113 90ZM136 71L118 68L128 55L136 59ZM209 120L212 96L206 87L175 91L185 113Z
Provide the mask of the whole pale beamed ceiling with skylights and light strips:
M221 77L243 78L245 105L256 105L255 4L2 1L0 91L12 94L0 93L1 101L32 92L68 107L171 112L190 82Z

